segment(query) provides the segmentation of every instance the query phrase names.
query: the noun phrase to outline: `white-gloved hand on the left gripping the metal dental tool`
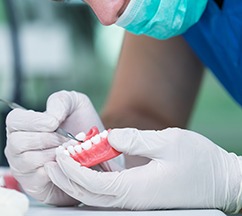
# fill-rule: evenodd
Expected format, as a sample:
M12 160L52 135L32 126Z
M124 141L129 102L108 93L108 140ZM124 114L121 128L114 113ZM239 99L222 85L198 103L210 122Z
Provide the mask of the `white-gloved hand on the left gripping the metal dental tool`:
M54 93L47 101L46 112L14 109L7 116L6 125L5 154L24 191L48 204L79 203L51 182L44 164L55 161L55 148L66 141L54 133L58 127L73 134L87 132L94 125L103 130L88 97L77 92Z

